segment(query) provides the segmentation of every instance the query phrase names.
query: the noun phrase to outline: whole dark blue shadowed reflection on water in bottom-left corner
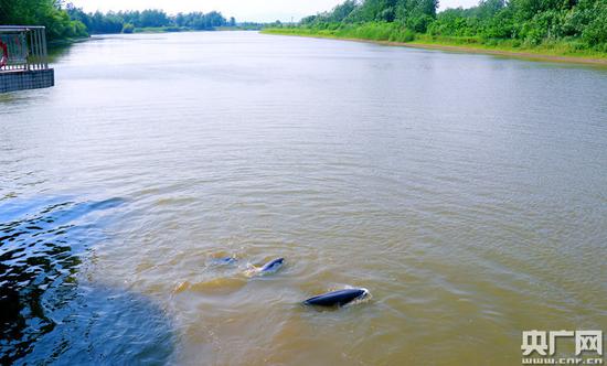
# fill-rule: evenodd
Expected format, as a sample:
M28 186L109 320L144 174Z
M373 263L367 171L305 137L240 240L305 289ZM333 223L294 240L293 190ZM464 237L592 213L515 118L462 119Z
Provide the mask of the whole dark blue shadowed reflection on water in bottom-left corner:
M34 197L0 205L3 364L158 363L168 357L171 333L160 310L77 276L90 255L87 249L104 239L107 213L123 204L121 198L78 203ZM140 344L141 338L151 342Z

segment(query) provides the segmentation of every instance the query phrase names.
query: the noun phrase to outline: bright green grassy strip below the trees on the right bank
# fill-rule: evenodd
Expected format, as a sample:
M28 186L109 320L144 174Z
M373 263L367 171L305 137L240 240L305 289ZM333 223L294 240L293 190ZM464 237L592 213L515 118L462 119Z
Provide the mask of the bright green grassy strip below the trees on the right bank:
M274 28L265 29L263 33L372 41L391 45L607 65L607 53L584 49L575 41L544 41L537 45L531 45L517 40L436 36L415 33L395 23L368 23L333 29Z

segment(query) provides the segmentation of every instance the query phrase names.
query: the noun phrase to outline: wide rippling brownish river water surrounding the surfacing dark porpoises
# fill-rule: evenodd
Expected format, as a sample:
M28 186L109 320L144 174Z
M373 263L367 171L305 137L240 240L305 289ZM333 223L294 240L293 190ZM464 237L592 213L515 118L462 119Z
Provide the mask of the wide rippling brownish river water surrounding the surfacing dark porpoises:
M606 69L254 32L53 66L0 96L2 362L517 365L522 331L607 331Z

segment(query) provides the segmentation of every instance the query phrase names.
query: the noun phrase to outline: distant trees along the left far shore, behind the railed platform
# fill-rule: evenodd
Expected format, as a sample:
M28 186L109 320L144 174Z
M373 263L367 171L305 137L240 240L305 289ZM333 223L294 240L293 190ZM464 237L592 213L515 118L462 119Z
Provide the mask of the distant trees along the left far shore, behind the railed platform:
M84 37L98 33L132 33L138 28L180 31L237 25L234 18L227 20L216 11L177 15L168 15L162 10L86 13L72 3L64 6L63 0L0 0L0 24L45 25L50 40ZM252 29L256 24L244 25ZM260 24L257 25L260 28Z

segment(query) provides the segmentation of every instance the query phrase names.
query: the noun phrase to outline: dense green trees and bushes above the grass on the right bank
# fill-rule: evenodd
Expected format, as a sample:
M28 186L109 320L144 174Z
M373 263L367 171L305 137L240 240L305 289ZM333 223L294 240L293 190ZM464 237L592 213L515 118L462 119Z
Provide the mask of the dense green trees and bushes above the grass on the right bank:
M569 42L607 52L607 0L481 0L470 9L441 12L437 7L438 0L347 0L302 19L299 28L336 35L376 32L390 41L424 34L481 43L508 40L514 46Z

